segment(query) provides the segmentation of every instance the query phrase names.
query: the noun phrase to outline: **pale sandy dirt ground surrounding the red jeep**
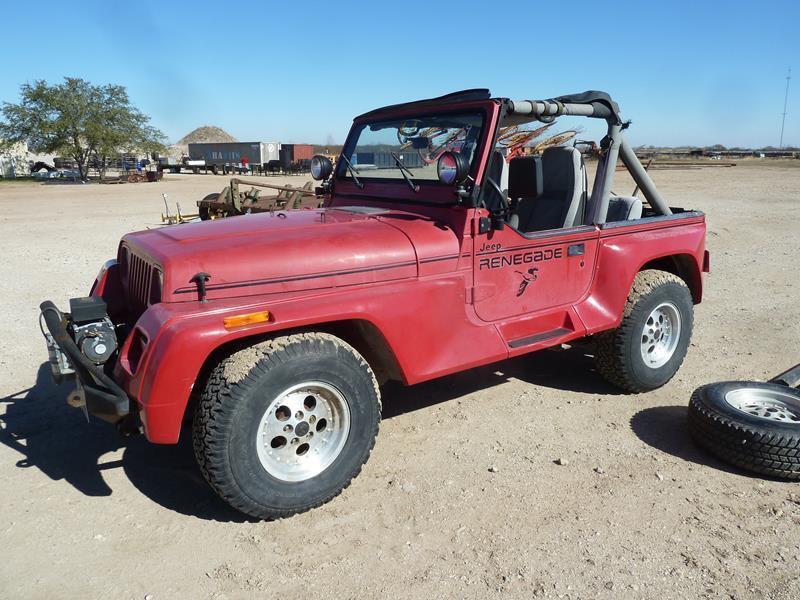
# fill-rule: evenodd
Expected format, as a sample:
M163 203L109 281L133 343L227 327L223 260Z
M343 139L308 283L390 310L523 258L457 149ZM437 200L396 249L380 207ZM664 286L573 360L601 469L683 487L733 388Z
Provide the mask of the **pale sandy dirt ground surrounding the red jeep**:
M800 361L800 168L654 179L708 215L712 273L673 381L620 394L570 349L389 386L361 475L278 522L226 508L189 444L87 424L37 325L41 300L84 295L123 233L158 223L162 192L186 209L223 178L0 183L0 597L800 597L800 487L725 466L685 427L698 385Z

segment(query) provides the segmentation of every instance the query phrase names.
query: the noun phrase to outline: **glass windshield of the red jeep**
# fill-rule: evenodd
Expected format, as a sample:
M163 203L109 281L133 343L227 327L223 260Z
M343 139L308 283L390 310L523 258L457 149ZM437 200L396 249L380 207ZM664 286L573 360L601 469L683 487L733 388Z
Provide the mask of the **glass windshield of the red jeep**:
M439 183L437 161L447 151L472 167L484 125L482 112L403 117L358 125L338 161L337 176L363 183ZM350 165L348 165L348 161ZM471 169L470 169L471 170ZM405 176L404 176L405 172Z

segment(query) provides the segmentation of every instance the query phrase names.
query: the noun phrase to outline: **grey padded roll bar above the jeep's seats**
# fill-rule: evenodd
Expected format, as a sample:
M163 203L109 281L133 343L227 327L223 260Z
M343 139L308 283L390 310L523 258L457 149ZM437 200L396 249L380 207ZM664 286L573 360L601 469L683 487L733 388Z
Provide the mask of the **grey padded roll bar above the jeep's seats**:
M570 102L569 100L578 101ZM592 215L594 223L598 225L605 223L618 159L622 160L650 206L663 215L672 214L672 210L656 189L655 183L645 171L642 163L639 162L639 158L628 140L625 139L622 131L627 125L622 123L617 105L608 94L584 92L551 100L508 100L506 113L531 116L543 122L567 115L606 120L608 132L601 143L605 155L597 166L596 185L592 190L590 202L595 209L595 213Z

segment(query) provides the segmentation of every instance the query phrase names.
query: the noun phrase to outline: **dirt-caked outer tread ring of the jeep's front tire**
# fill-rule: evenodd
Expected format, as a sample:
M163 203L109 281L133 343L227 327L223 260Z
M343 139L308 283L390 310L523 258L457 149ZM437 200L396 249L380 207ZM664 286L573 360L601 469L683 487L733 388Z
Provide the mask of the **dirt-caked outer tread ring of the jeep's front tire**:
M372 369L364 358L344 340L320 332L298 333L266 340L250 346L220 361L209 376L208 383L200 398L192 427L192 443L200 472L209 485L236 510L260 519L280 519L317 508L338 496L361 472L363 466L350 475L337 491L318 501L299 508L285 510L265 506L255 498L248 497L239 487L228 460L228 450L223 432L231 427L234 412L231 405L236 401L239 390L255 382L255 375L266 373L274 365L301 352L319 350L324 344L332 344L338 352L352 354L369 375L375 389L380 415L381 397L378 382ZM244 363L244 364L241 364ZM246 374L242 373L250 365ZM244 375L242 377L242 375ZM380 426L380 416L374 423L371 442L366 458L375 446ZM364 462L366 462L366 458Z

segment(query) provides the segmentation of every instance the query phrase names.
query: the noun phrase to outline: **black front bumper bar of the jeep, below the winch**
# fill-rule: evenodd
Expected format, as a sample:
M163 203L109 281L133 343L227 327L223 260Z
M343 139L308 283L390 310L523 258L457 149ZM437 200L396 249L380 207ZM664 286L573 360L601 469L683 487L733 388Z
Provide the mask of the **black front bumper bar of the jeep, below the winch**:
M56 383L74 378L76 390L69 404L82 407L91 415L117 423L131 413L131 401L113 379L87 359L67 331L68 317L49 300L39 305L47 326L50 366Z

